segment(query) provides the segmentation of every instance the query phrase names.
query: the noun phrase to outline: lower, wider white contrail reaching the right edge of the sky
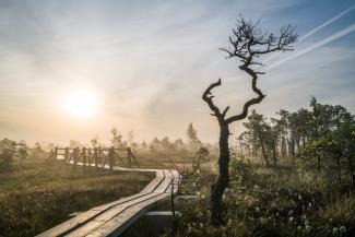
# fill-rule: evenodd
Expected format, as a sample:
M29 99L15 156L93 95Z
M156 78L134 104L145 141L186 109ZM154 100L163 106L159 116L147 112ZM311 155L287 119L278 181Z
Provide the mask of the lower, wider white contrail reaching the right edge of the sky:
M351 34L353 32L355 32L355 23L352 24L352 25L350 25L350 26L347 26L346 28L344 28L344 29L342 29L340 32L336 32L333 35L330 35L327 38L324 38L324 39L322 39L322 40L320 40L320 42L311 45L310 47L308 47L308 48L306 48L304 50L300 50L300 51L296 52L295 55L292 55L292 56L289 56L289 57L287 57L285 59L282 59L280 61L276 61L275 63L273 63L269 68L267 68L265 71L269 71L270 69L273 69L273 68L275 68L275 67L277 67L277 66L280 66L280 64L282 64L282 63L284 63L286 61L289 61L289 60L292 60L294 58L297 58L297 57L303 56L303 55L305 55L307 52L310 52L310 51L312 51L312 50L315 50L315 49L317 49L319 47L322 47L322 46L324 46L324 45L327 45L327 44L329 44L331 42L334 42L338 38L341 38L341 37L343 37L345 35L348 35L348 34Z

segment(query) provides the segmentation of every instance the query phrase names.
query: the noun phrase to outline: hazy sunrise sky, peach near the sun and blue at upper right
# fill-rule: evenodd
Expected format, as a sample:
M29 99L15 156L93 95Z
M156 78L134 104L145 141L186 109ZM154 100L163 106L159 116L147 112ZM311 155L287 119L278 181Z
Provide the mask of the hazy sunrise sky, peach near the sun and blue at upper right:
M186 138L215 142L218 127L201 95L222 79L215 103L237 114L250 78L218 48L241 14L277 33L294 24L292 52L261 59L267 94L252 108L267 117L307 107L310 96L355 112L353 0L0 0L0 137L87 143L117 127L138 141ZM94 109L75 116L72 94ZM74 96L75 97L75 96ZM76 96L78 97L78 96ZM80 99L85 99L81 97ZM76 98L78 99L78 98ZM234 135L241 121L230 126Z

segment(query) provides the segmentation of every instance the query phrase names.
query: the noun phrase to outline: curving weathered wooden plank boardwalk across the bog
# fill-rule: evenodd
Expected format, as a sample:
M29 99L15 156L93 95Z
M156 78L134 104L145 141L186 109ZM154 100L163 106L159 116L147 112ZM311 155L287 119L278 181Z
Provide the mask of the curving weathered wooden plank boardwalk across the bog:
M105 168L109 168L108 165ZM180 182L180 175L177 170L122 168L118 166L115 166L114 170L153 171L156 176L141 192L93 208L37 236L119 236L149 211L155 202L169 197L171 188L173 192L176 193Z

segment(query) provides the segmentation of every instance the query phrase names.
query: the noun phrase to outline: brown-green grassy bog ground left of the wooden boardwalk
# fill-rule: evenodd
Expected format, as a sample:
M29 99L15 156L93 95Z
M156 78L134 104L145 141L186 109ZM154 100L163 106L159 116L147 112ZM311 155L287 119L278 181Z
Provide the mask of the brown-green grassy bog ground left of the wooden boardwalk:
M153 176L44 159L0 170L0 236L34 236L71 213L139 192Z

